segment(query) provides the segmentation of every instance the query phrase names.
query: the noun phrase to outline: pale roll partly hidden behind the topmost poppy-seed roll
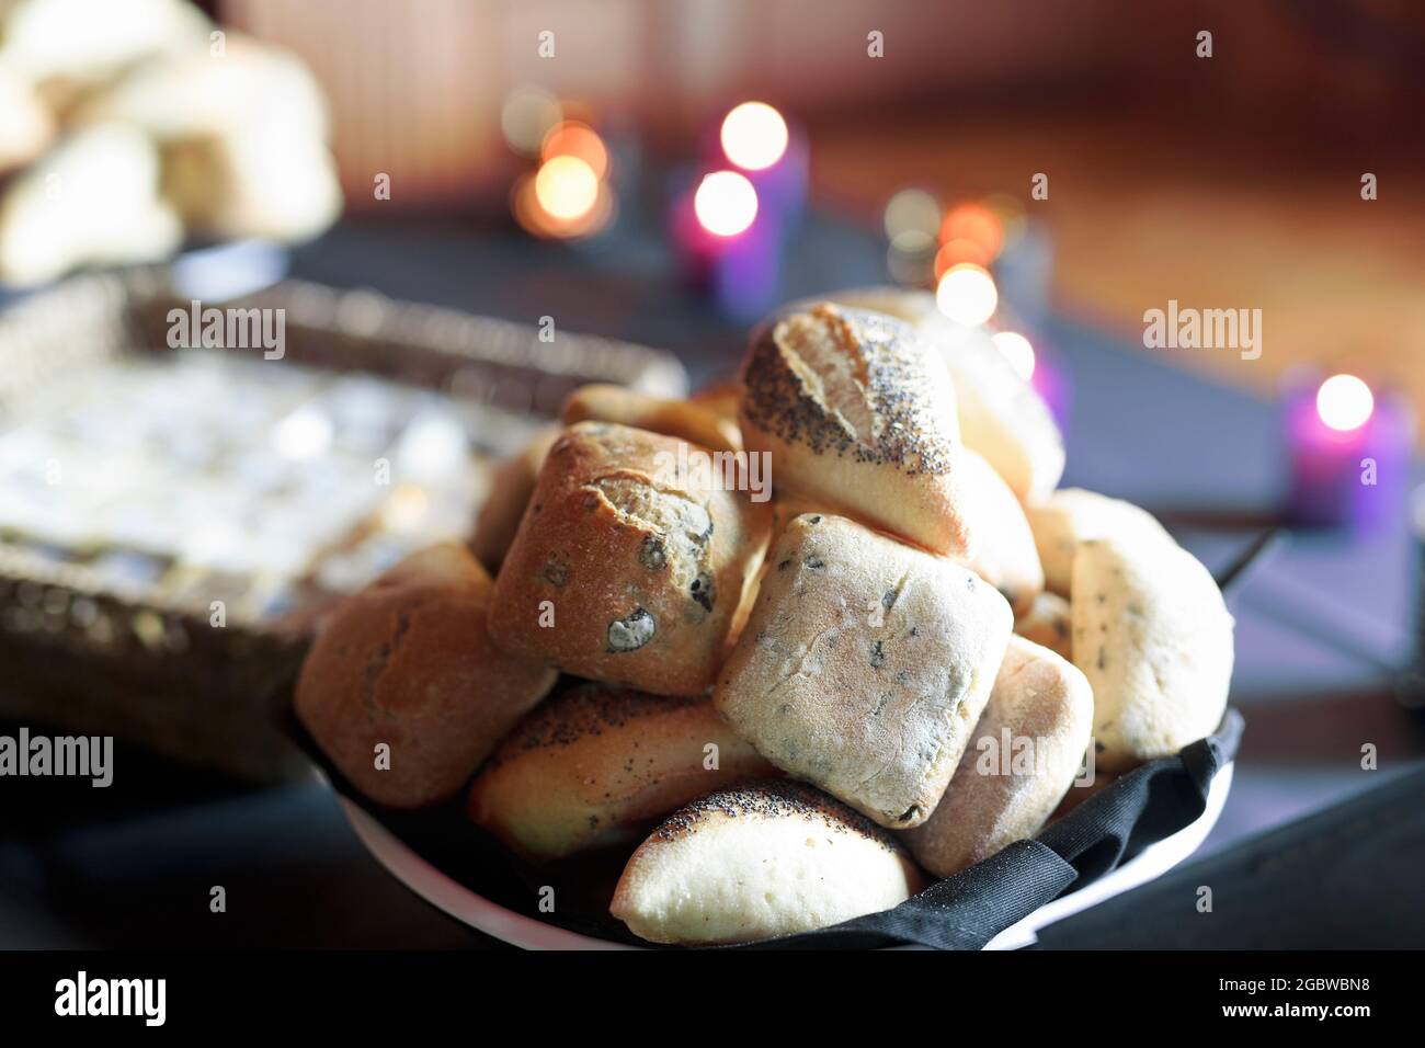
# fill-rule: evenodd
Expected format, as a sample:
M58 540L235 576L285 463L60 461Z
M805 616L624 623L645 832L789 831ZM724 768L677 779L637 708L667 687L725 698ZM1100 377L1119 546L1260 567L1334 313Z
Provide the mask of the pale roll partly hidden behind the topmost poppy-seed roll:
M1054 489L1064 472L1059 426L982 328L950 321L928 291L858 288L829 298L911 324L945 358L965 446L983 455L1020 500L1042 499Z

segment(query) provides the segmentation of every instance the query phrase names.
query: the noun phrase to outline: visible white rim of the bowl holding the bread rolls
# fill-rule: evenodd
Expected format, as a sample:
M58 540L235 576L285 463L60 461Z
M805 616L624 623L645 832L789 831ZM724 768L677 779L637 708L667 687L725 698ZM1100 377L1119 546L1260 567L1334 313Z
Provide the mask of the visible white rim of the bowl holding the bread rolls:
M1047 924L1070 914L1097 905L1106 898L1151 881L1191 856L1207 837L1227 803L1227 790L1233 781L1233 766L1223 767L1213 779L1203 814L1188 826L1149 846L1131 861L1104 874L1079 891L1056 898L1042 905L1022 921L1005 928L992 938L986 950L1017 950L1035 941L1035 933ZM446 877L426 860L406 847L386 827L366 814L359 806L338 794L342 811L352 824L366 850L376 857L398 881L420 898L443 910L462 924L483 931L486 935L503 940L524 950L638 950L627 942L580 935L553 924L524 917L492 903L463 884Z

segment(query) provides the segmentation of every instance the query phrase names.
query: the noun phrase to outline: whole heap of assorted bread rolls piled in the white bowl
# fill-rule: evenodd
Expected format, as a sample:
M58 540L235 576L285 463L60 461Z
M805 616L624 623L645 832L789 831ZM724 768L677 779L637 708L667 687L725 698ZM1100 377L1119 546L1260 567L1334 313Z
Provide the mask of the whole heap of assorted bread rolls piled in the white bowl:
M534 864L621 848L610 910L654 942L826 927L1036 834L1086 766L1216 729L1233 622L1144 510L1056 490L996 354L859 291L782 309L688 401L576 392L477 556L332 616L298 714L373 801L463 794ZM750 456L770 489L728 482Z

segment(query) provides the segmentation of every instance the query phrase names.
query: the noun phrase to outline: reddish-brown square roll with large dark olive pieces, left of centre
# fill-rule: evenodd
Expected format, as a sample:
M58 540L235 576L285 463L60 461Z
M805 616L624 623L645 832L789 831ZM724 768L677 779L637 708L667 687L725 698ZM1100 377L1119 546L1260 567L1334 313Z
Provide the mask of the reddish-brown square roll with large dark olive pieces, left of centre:
M494 585L497 644L654 694L712 684L771 506L680 476L680 443L606 422L554 442Z

